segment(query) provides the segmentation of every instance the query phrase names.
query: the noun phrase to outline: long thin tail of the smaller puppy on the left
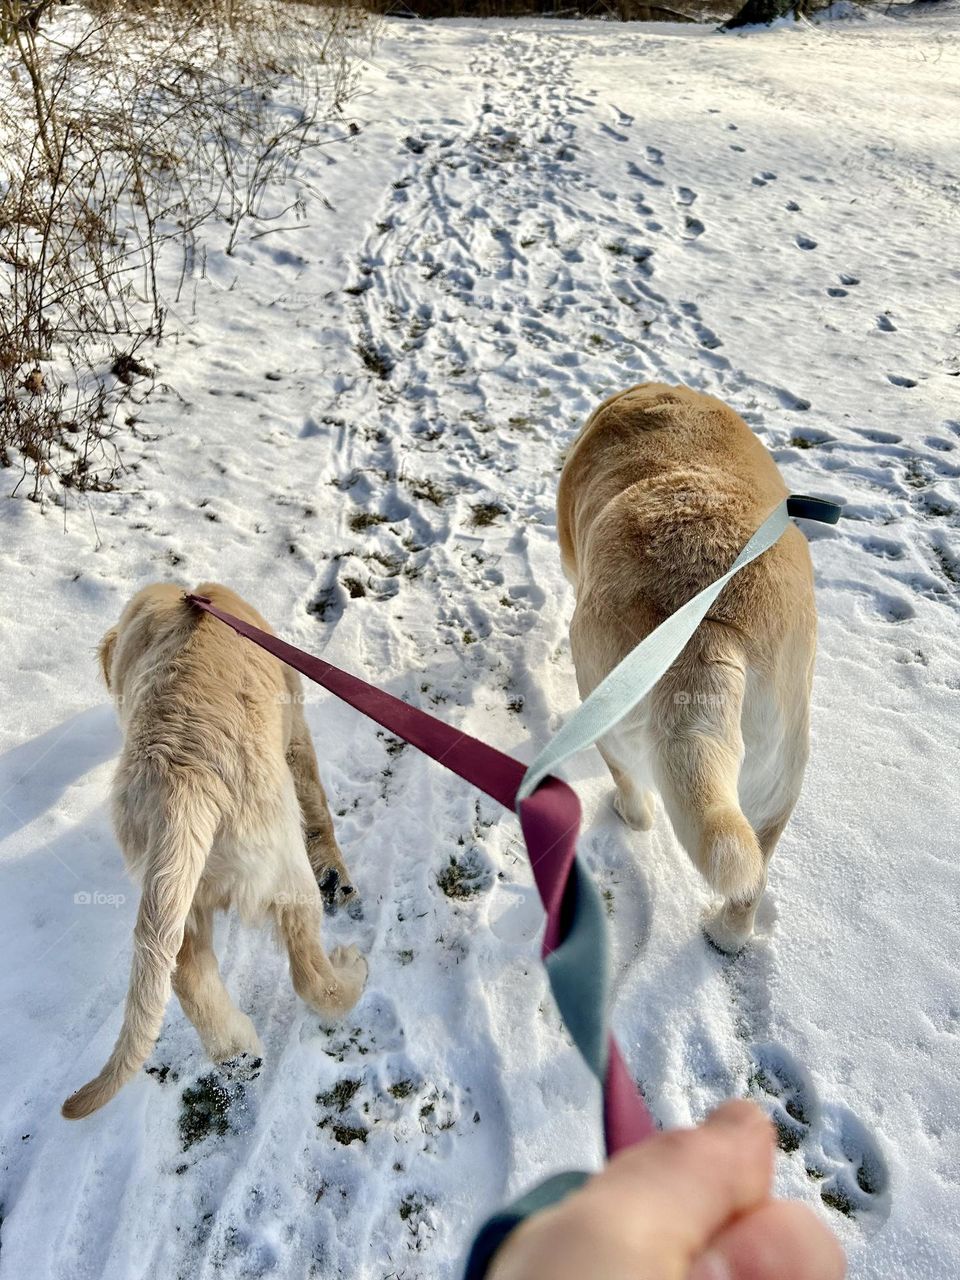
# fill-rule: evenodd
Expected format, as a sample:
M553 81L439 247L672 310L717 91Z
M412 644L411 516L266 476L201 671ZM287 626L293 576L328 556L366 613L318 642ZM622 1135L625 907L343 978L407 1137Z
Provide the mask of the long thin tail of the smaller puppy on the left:
M156 822L147 852L120 1034L100 1075L64 1102L60 1112L68 1120L88 1116L109 1102L146 1062L160 1034L184 924L218 824L214 805L184 791Z

